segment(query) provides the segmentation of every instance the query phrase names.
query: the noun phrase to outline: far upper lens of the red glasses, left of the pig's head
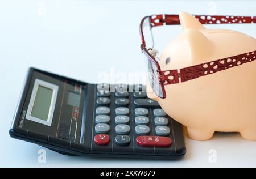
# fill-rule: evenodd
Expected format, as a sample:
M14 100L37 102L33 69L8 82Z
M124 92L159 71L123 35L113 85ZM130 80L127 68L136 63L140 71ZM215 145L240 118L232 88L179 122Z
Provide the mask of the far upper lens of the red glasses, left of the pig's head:
M146 18L142 24L142 31L147 49L154 48L154 39L151 31L150 18Z

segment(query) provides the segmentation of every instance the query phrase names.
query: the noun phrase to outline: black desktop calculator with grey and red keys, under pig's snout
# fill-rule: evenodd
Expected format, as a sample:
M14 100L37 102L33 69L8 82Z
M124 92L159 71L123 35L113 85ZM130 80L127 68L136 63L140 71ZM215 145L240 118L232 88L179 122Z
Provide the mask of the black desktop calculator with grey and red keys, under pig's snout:
M10 135L64 155L183 157L183 126L145 91L141 84L89 84L30 68Z

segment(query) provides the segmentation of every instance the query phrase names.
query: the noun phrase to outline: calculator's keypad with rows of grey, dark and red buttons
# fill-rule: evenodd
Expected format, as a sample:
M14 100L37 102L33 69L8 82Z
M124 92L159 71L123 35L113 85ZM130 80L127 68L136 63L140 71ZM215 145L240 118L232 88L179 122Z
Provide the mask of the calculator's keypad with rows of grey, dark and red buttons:
M92 150L152 154L162 152L154 147L171 146L170 119L141 91L144 86L134 86L135 92L127 92L125 84L115 85L115 92L109 92L107 84L97 88Z

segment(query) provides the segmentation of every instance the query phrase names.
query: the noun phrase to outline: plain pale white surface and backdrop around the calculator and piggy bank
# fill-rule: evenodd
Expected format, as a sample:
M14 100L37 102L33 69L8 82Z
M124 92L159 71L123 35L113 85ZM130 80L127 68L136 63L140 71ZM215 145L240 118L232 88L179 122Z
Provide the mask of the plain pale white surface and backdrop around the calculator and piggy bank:
M144 15L182 10L256 15L255 5L255 1L0 1L0 167L256 167L256 142L246 141L238 133L216 134L205 142L187 138L187 154L178 161L95 159L46 149L46 163L39 163L38 150L43 147L9 137L28 67L91 83L97 82L98 73L111 69L145 71L138 31ZM221 27L255 37L254 24ZM161 49L181 28L157 31ZM209 160L212 149L215 163Z

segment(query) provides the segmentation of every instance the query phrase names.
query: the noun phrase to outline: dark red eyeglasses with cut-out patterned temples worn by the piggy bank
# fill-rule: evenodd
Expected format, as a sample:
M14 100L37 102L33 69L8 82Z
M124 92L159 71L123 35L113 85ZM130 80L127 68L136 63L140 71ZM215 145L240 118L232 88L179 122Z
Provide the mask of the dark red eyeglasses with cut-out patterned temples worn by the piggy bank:
M238 23L256 23L256 16L223 16L223 15L194 15L201 24L238 24ZM187 82L201 76L216 73L230 69L234 66L256 60L256 50L244 54L238 54L233 57L217 59L216 61L205 62L199 65L184 67L183 69L162 71L158 60L154 54L154 37L152 28L161 25L177 25L180 24L179 15L151 15L142 19L140 24L141 33L141 50L148 61L148 80L152 90L160 98L166 98L164 86ZM146 42L146 34L150 39Z

